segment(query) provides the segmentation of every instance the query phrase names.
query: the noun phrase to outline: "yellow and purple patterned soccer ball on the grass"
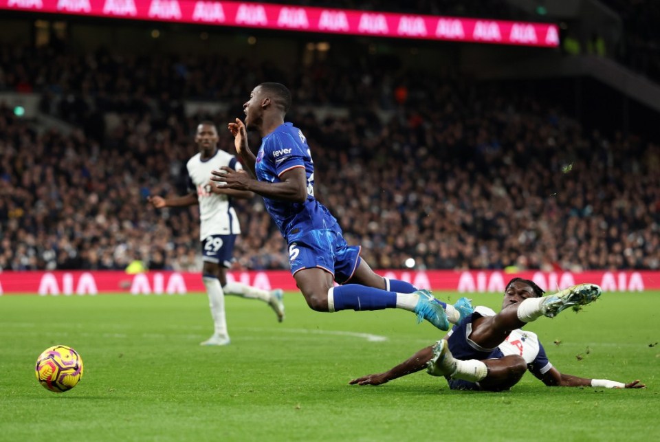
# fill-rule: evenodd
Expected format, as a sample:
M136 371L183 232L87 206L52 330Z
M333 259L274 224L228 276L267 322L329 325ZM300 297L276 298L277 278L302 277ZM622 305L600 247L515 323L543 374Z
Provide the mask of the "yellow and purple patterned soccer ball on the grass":
M36 379L55 393L71 390L83 377L83 358L71 347L52 346L36 360Z

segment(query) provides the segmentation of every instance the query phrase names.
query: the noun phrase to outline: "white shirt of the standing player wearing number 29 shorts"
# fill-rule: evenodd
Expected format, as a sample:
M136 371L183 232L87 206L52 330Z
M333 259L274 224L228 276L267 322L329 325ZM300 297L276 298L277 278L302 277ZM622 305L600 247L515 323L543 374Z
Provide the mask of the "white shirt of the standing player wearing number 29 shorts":
M197 153L188 160L190 191L197 192L199 200L199 239L204 241L210 235L240 234L239 218L232 207L231 198L227 195L217 195L211 192L211 170L219 170L221 166L228 166L234 170L242 170L241 163L236 157L225 151L218 151L209 159L202 160L201 153Z

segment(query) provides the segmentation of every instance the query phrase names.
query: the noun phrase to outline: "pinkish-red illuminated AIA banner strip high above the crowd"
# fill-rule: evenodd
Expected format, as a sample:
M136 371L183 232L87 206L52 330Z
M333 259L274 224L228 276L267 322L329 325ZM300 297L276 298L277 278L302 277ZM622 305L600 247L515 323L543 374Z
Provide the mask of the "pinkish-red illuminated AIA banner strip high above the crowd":
M240 1L0 0L0 9L147 21L558 47L557 25Z

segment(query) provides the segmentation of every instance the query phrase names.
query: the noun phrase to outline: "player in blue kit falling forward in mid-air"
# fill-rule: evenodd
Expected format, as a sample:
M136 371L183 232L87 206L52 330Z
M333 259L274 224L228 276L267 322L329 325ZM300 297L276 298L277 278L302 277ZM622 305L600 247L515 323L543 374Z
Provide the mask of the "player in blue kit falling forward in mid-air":
M263 197L266 210L287 241L291 272L307 305L316 311L404 309L447 330L472 312L469 300L456 305L435 299L410 283L378 276L347 245L329 210L314 197L314 162L303 132L284 118L291 93L279 83L262 83L243 104L245 124L228 124L236 152L250 172L221 167L212 172L218 186L250 190ZM254 155L247 131L261 135ZM334 286L334 281L339 285Z

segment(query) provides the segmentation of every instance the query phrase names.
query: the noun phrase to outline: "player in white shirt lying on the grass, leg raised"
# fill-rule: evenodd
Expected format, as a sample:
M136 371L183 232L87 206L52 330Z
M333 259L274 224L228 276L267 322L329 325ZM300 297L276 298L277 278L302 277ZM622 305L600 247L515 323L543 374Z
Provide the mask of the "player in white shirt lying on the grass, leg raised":
M430 375L444 376L452 390L502 391L516 385L529 369L547 386L644 388L639 380L623 384L560 373L549 362L536 334L521 330L540 316L553 318L567 307L579 309L601 293L597 285L580 284L543 296L544 291L533 281L514 278L505 289L499 313L478 306L436 344L384 373L350 383L380 385L426 368Z

